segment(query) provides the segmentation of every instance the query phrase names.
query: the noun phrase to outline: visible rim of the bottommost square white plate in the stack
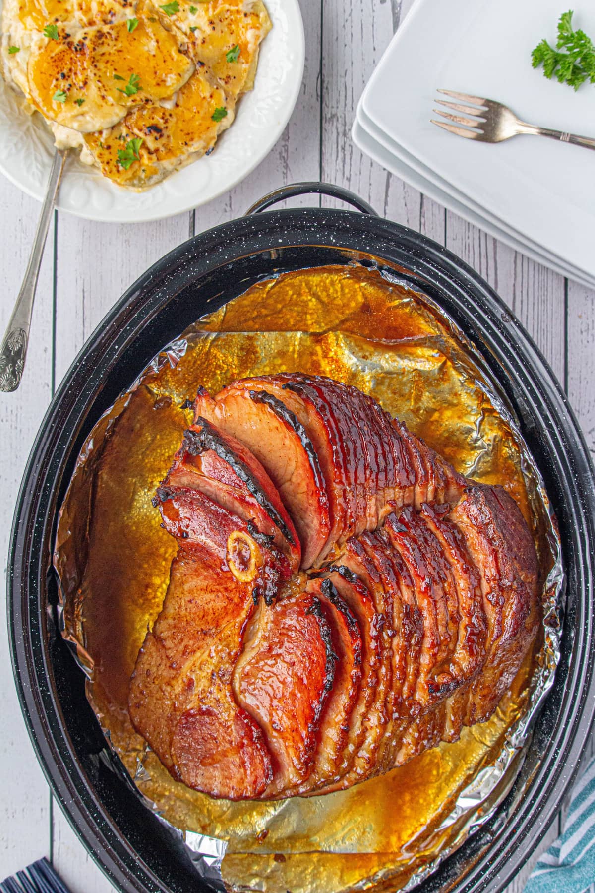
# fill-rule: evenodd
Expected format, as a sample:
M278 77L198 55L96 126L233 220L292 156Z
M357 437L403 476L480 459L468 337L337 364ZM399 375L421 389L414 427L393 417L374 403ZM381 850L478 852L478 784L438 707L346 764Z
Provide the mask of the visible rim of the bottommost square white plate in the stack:
M403 163L396 155L392 154L385 146L373 138L368 131L362 127L357 119L353 122L351 138L356 146L359 146L361 151L369 155L369 157L376 163L381 164L387 171L391 171L396 177L404 179L412 187L423 192L424 195L429 198L432 198L434 202L443 204L444 207L448 208L450 211L459 214L459 217L462 217L469 223L473 223L474 226L487 232L488 235L499 239L500 242L508 245L514 251L521 252L536 263L547 263L550 269L557 272L560 276L570 276L570 271L568 271L565 265L559 264L551 258L546 259L542 255L534 252L531 246L527 246L524 242L510 236L507 232L500 230L489 221L485 221L483 217L469 210L467 205L461 204L456 198L453 198L448 193L443 192L442 189L436 187L433 182L423 177L418 171L410 168L406 163ZM574 276L571 278L581 282L587 288L593 287L591 280L583 280L582 278L576 278Z

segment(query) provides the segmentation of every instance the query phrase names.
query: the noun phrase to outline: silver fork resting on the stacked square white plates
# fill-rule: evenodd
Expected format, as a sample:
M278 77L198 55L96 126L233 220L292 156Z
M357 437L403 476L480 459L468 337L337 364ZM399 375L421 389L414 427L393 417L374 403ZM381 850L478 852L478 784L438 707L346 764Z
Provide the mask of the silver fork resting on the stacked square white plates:
M527 124L526 121L517 118L507 105L497 103L493 99L469 96L468 93L457 93L454 90L438 90L438 93L458 99L457 103L451 103L445 99L436 99L436 102L461 114L434 109L436 114L448 118L449 121L454 121L455 124L447 124L446 121L434 121L433 119L432 123L445 130L450 130L450 133L456 133L458 137L479 139L483 143L501 143L503 139L527 133L533 134L535 137L550 137L558 139L562 143L574 143L574 146L595 149L595 139L578 137L576 134L566 133L564 130L551 130L549 127L536 127L534 124ZM462 124L463 127L456 127L456 124Z

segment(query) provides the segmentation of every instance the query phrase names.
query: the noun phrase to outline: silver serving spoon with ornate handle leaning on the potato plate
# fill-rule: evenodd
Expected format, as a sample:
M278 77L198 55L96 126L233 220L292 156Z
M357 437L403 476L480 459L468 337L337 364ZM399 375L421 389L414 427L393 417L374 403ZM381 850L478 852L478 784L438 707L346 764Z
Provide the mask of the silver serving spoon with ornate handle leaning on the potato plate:
M45 238L52 220L52 213L54 212L56 196L60 188L60 180L62 179L62 171L67 154L68 149L58 149L56 154L54 154L52 170L47 181L44 204L39 215L27 271L25 272L25 278L14 305L12 316L8 322L2 346L0 346L0 391L5 391L6 393L16 390L21 384L27 346L29 344L29 328L35 289L37 288L39 266L44 255Z

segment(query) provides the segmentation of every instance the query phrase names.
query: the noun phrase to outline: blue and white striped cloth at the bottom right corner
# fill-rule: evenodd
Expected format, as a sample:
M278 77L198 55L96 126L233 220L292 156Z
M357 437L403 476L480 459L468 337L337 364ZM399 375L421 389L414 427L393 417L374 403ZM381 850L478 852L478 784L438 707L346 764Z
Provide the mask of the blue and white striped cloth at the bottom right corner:
M562 836L541 855L525 893L595 893L595 757L574 785Z

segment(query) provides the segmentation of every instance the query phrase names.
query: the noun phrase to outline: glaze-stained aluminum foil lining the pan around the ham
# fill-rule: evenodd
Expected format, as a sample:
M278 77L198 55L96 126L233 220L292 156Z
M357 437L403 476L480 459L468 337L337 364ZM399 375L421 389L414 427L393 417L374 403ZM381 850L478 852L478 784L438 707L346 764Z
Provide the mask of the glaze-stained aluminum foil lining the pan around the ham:
M376 396L460 472L501 483L542 570L540 647L492 719L379 779L326 797L215 801L169 777L131 729L128 679L161 608L176 544L150 499L189 421L186 398L236 377L313 371ZM475 348L434 302L385 269L283 273L202 318L104 413L62 505L54 566L64 637L87 697L145 805L182 836L214 889L409 890L497 810L559 660L564 572L541 474ZM120 763L121 761L121 763Z

